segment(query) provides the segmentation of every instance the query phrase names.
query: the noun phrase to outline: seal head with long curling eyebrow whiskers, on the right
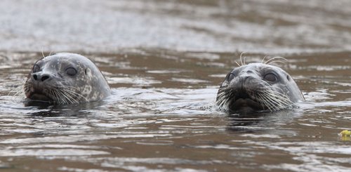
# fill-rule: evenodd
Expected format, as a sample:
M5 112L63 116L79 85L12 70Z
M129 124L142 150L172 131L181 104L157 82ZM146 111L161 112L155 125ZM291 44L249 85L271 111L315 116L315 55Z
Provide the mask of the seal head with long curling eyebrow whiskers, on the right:
M303 94L279 67L250 63L235 68L221 84L216 105L225 112L277 111L294 107Z

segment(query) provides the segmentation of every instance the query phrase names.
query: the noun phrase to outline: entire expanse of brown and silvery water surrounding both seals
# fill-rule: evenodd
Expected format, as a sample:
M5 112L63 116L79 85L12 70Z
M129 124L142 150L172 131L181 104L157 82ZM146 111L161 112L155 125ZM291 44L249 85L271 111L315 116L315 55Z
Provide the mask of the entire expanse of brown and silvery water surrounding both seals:
M1 1L1 171L350 171L348 1ZM83 26L83 27L82 27ZM93 59L100 102L25 106L13 95L51 51ZM213 107L239 55L296 80L296 110Z

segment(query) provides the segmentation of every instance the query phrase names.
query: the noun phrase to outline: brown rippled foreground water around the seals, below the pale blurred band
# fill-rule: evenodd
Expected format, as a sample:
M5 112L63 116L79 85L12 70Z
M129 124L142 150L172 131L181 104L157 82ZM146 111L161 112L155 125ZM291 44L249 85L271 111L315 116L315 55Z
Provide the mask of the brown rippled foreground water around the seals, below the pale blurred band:
M239 60L232 58L237 54L162 52L87 54L113 95L50 107L25 107L8 95L41 54L7 53L13 61L6 62L11 71L1 69L1 165L13 171L351 168L350 140L338 136L350 127L348 53L287 57L285 69L306 102L296 110L242 118L213 107L232 67L227 61Z

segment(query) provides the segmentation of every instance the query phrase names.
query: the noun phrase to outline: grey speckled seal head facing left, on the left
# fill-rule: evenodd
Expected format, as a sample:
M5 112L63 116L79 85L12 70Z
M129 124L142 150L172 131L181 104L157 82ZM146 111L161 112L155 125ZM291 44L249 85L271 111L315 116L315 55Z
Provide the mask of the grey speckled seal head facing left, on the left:
M111 93L98 67L75 53L57 53L35 62L24 89L27 99L51 104L97 101Z

